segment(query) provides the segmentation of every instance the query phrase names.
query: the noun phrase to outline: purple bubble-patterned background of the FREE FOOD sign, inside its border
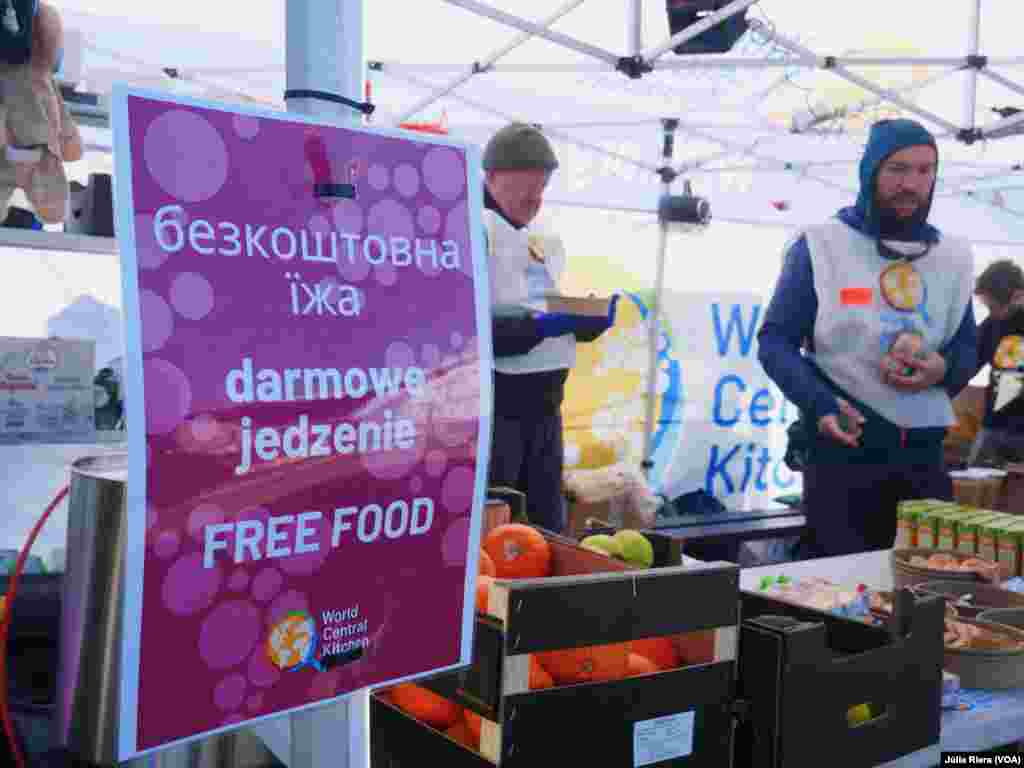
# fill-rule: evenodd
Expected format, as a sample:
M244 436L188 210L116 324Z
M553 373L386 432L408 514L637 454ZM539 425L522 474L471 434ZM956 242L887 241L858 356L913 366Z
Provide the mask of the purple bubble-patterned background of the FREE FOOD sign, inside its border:
M302 123L134 97L129 111L147 461L142 642L157 649L139 670L140 748L456 664L461 606L435 595L465 585L453 565L468 543L480 378L461 152L325 131L336 180L356 184L354 200L328 204L312 194ZM382 258L381 244L398 257ZM441 263L453 244L461 272ZM362 313L295 315L293 285L301 308L355 288ZM254 373L415 366L427 384L418 394L238 403L225 376L243 356ZM410 420L416 439L359 456L281 455L236 476L243 417L254 431L284 432L302 413L310 423ZM427 532L364 544L351 518L332 546L337 507L414 498L433 505ZM318 550L268 556L271 514L311 510L323 513L307 540ZM259 523L249 532L262 531L260 558L232 562L247 551L232 528L203 567L207 526L242 522ZM294 552L295 529L283 529L276 544ZM271 662L269 632L284 616L307 611L323 649L325 612L356 603L368 628L361 659L327 673ZM167 696L182 680L187 700Z

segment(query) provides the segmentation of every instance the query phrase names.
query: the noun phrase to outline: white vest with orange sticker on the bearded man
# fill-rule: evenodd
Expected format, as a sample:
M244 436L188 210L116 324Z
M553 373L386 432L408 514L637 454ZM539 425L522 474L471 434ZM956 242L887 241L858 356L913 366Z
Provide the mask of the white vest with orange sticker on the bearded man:
M901 392L882 380L882 358L901 332L920 333L929 351L939 351L959 328L974 293L970 246L946 234L913 261L925 300L910 311L892 308L883 296L883 258L874 240L839 219L808 229L818 314L812 359L837 386L905 429L947 427L952 403L941 386ZM851 300L849 289L861 289ZM869 301L862 289L870 290Z

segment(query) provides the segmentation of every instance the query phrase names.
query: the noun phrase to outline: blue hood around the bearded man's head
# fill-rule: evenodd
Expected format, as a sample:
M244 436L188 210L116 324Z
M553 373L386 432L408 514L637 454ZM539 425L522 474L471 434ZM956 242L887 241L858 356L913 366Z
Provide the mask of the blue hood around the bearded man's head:
M939 231L928 223L934 187L925 205L905 226L898 227L899 231L883 231L885 222L876 204L877 181L882 163L894 153L922 144L935 147L938 155L935 136L916 121L882 120L871 126L864 156L860 159L860 194L857 196L857 204L840 211L840 218L870 238L937 242Z

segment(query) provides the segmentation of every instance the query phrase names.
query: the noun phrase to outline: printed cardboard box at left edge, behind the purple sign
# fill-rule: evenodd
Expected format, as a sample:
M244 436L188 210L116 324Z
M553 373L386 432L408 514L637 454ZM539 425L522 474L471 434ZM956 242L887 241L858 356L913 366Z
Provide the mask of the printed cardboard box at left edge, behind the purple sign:
M94 442L96 342L0 337L0 444Z

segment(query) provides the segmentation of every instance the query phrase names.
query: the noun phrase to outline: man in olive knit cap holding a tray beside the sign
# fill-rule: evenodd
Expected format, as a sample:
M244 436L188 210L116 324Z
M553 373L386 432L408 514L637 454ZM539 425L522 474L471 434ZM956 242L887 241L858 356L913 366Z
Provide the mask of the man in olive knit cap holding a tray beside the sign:
M558 293L565 252L557 238L529 224L558 168L547 137L512 123L483 153L483 221L487 240L495 352L495 427L490 484L526 496L531 523L565 528L562 499L562 417L565 381L577 341L594 341L614 323L606 317L547 311Z

